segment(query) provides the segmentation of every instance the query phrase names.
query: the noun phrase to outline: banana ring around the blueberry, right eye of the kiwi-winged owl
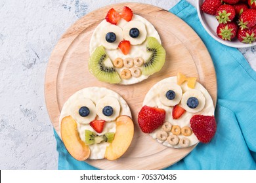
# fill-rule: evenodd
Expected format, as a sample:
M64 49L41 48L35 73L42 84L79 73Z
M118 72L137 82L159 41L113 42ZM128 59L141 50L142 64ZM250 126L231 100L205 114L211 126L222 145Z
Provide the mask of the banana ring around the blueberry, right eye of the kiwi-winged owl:
M131 37L130 30L133 28L139 30L138 37ZM146 26L143 22L140 21L132 20L123 27L123 38L130 41L132 45L138 45L144 42L146 39L146 34Z

